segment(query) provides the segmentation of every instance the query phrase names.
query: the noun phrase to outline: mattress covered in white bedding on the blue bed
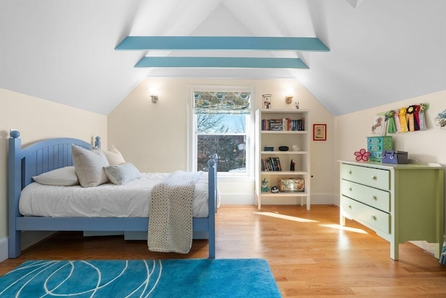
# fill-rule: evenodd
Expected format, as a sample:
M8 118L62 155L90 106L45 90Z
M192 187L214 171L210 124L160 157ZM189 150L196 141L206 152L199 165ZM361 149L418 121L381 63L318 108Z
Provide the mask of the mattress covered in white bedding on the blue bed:
M141 173L123 185L96 187L47 186L33 182L20 194L23 216L45 217L148 217L151 189L171 173ZM208 217L208 173L201 172L192 201L194 218Z

